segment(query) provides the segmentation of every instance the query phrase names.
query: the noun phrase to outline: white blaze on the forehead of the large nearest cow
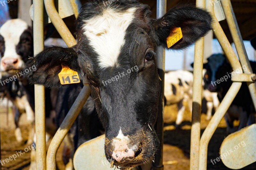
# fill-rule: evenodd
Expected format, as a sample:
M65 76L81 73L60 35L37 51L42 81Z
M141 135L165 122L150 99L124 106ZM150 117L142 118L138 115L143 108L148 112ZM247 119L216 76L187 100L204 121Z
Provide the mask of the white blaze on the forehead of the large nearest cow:
M102 69L118 66L117 58L124 45L126 30L135 18L135 11L136 8L122 12L108 8L102 15L84 20L84 34L98 53L98 62Z

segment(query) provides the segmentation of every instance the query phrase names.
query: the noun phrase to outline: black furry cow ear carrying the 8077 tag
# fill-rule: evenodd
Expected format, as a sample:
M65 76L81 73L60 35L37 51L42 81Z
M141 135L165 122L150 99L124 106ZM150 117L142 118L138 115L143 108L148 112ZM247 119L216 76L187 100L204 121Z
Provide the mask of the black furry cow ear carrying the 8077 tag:
M211 30L212 17L209 12L193 6L174 7L154 23L158 46L168 49L167 38L180 27L183 38L169 49L182 49L193 44Z

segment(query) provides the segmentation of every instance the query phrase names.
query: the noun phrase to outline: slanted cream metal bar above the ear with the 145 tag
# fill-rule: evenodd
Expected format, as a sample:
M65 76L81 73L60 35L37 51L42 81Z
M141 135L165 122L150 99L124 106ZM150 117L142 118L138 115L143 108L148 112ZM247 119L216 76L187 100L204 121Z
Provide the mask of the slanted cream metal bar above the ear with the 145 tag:
M52 24L55 26L61 38L66 42L68 47L76 45L75 38L73 37L72 33L70 33L68 27L60 18L60 15L55 8L54 0L44 0L44 5Z

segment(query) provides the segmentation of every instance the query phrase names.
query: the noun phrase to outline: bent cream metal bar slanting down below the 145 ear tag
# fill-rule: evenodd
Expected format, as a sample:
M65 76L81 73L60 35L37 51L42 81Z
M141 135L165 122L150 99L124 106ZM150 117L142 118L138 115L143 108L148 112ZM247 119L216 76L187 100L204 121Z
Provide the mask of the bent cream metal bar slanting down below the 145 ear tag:
M84 103L90 96L90 87L89 85L84 85L82 91L79 93L76 101L70 108L68 115L65 117L63 122L60 125L60 128L57 130L56 134L52 138L52 142L49 146L47 152L47 170L55 170L56 169L56 153L60 147L61 142L68 134L69 129L73 125L76 120L76 117L79 115L82 110Z

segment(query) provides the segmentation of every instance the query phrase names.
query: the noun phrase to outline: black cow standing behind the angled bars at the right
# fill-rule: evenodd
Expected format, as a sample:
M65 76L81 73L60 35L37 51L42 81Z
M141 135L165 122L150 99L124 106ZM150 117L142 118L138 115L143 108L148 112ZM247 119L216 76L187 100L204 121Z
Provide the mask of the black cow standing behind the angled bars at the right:
M232 85L231 77L236 74L236 70L231 68L228 60L223 54L213 54L207 61L208 62L204 64L204 68L207 70L207 78L205 78L207 88L211 92L218 92L218 99L221 102ZM255 62L250 63L252 65L252 70L255 73ZM243 66L243 69L247 68ZM253 124L255 122L254 113L255 110L249 89L246 82L243 82L234 101L231 103L231 106L225 114L227 134L236 131L233 125L234 120L240 120L237 130L244 128L246 125Z

